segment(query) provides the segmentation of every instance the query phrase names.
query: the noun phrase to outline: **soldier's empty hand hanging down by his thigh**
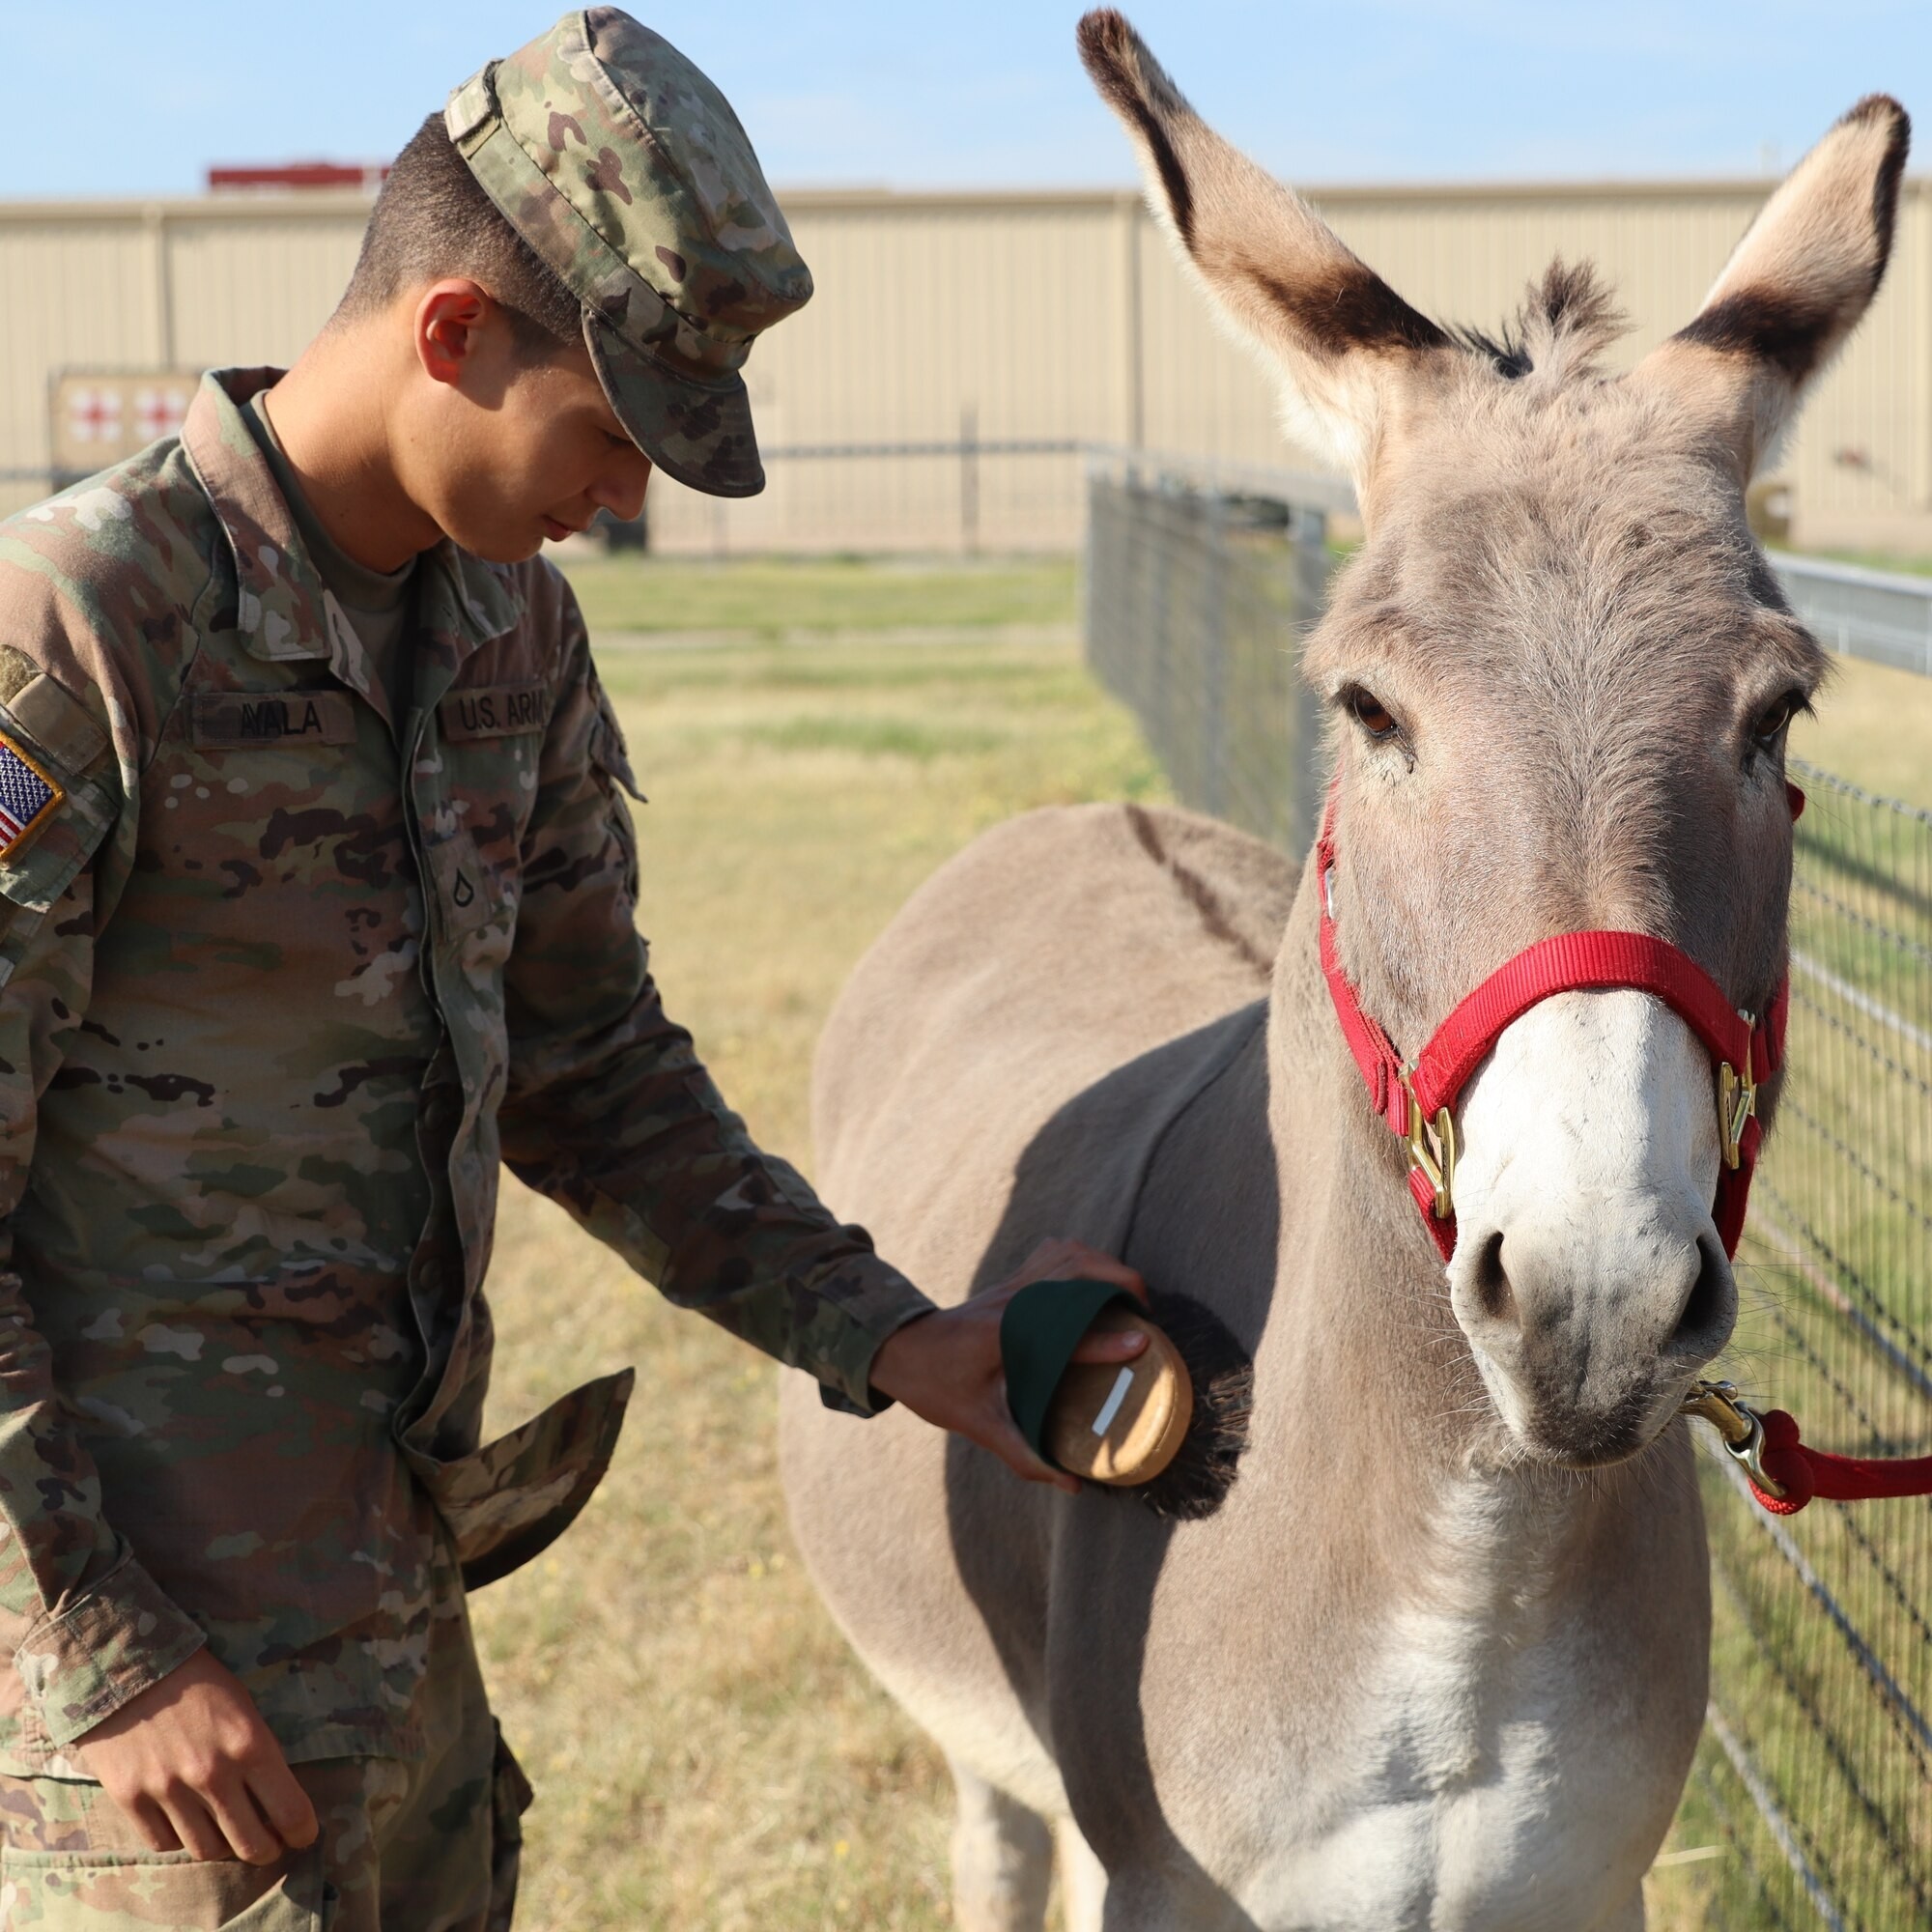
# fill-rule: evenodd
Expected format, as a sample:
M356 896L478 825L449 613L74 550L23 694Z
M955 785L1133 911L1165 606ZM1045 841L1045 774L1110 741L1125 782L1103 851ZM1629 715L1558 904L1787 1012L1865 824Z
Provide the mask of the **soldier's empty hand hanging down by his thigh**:
M282 1747L207 1650L81 1737L81 1760L153 1851L274 1864L315 1843L315 1806Z

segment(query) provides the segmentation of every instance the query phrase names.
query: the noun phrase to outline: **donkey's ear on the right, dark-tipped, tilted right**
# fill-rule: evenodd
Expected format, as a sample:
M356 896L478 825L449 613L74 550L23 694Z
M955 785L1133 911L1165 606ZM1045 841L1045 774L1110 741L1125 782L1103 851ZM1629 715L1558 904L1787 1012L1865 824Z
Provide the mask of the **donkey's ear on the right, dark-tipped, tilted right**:
M1710 413L1745 481L1878 294L1911 131L1897 100L1861 100L1758 213L1696 321L1640 367Z

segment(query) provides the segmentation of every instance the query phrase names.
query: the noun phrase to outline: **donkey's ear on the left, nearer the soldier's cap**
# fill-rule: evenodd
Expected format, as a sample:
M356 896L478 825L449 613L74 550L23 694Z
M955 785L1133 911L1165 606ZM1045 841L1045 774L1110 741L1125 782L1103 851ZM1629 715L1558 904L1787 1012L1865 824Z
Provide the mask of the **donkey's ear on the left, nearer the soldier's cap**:
M1080 21L1080 58L1134 139L1180 259L1285 377L1291 429L1364 485L1393 392L1422 359L1459 354L1449 336L1208 128L1111 8Z

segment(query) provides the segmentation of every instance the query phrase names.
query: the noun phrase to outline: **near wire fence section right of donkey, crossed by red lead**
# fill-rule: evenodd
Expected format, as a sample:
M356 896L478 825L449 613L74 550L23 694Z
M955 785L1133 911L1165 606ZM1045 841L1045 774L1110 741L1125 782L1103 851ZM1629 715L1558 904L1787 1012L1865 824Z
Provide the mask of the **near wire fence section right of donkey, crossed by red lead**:
M1733 1378L1853 1455L1932 1453L1932 813L1793 759L1791 1074ZM1932 1501L1766 1517L1706 1468L1710 1922L1932 1926Z

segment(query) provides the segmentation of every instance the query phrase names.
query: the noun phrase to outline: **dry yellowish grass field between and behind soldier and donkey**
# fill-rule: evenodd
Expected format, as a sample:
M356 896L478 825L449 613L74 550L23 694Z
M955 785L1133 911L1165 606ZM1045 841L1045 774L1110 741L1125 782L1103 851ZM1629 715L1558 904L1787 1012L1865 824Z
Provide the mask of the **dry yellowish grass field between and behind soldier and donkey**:
M572 574L653 800L641 916L667 1003L753 1132L810 1169L813 1039L906 895L997 819L1163 796L1159 773L1080 668L1066 564ZM1932 742L1932 713L1909 715L1932 694L1888 676L1847 667L1806 755L1909 792L1924 769L1882 757L1907 728ZM777 1372L508 1180L493 1293L495 1424L639 1368L585 1519L475 1604L539 1793L520 1924L945 1926L947 1777L790 1553ZM1673 1841L1690 1861L1652 1876L1654 1932L1702 1922L1702 1851Z

